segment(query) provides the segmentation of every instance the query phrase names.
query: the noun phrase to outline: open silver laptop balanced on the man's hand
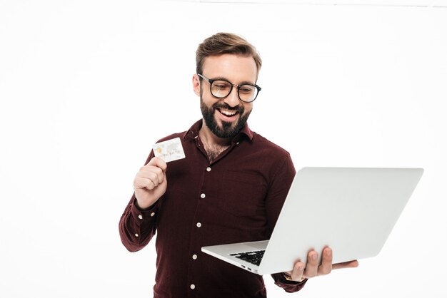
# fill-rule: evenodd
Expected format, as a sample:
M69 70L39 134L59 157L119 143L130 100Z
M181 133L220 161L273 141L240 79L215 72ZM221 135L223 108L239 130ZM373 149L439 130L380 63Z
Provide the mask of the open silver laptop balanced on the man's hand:
M260 275L290 271L324 247L333 250L334 264L375 257L422 174L421 168L302 168L270 240L201 250Z

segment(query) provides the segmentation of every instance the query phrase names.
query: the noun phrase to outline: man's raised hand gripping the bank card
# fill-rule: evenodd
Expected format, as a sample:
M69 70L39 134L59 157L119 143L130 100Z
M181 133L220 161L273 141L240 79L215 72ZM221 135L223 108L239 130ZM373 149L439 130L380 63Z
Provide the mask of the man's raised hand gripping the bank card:
M161 158L152 158L140 168L134 179L135 197L138 206L146 209L153 205L166 192L167 165Z

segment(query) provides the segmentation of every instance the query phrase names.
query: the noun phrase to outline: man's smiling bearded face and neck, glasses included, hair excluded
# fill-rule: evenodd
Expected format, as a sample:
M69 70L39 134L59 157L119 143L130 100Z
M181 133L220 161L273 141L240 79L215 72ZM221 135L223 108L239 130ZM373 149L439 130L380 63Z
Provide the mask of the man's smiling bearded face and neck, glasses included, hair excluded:
M204 116L199 137L212 161L246 125L261 88L255 84L258 67L251 56L208 56L201 68L204 74L198 71L193 76L194 92L200 96Z

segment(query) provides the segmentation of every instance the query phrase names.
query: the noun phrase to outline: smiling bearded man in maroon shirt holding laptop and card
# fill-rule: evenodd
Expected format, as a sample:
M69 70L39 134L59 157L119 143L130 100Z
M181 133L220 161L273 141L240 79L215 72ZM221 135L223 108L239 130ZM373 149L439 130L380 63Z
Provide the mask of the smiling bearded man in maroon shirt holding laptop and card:
M260 68L256 49L240 36L206 38L192 80L203 119L161 139L179 137L186 158L168 165L151 152L136 174L119 232L131 252L157 233L154 297L266 297L261 276L201 252L268 239L296 173L288 152L246 123ZM332 264L329 247L321 253L321 264L309 252L306 267L296 262L293 271L272 274L275 283L296 292L310 277L358 264Z

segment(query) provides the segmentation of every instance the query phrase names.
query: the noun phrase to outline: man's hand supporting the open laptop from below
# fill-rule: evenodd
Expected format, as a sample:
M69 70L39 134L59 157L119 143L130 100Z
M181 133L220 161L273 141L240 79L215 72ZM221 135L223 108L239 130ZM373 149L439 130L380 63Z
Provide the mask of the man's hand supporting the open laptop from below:
M358 266L358 262L356 260L332 264L332 250L329 247L326 247L321 253L323 255L319 266L318 252L312 250L307 256L307 266L303 262L298 261L293 266L293 271L286 272L286 274L290 275L291 279L294 281L302 282L306 278L329 274L331 273L332 269L355 268Z

